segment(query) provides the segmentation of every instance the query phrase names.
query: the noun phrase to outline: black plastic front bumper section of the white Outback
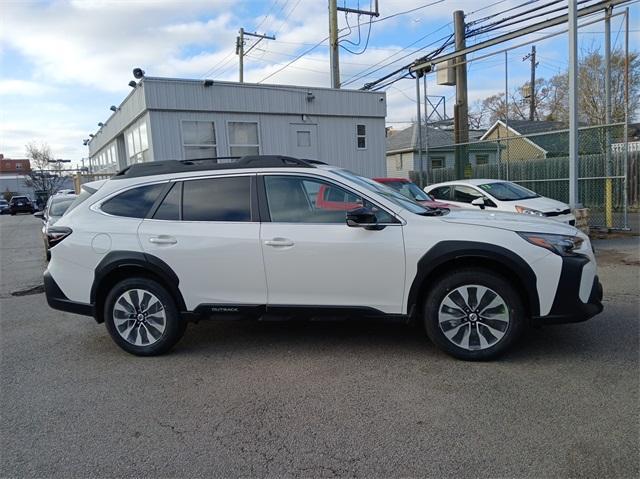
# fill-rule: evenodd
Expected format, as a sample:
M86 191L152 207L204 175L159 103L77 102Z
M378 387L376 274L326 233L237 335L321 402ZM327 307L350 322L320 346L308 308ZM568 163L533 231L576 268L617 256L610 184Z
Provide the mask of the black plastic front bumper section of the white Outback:
M589 258L585 256L576 255L562 258L562 271L551 311L546 316L534 317L534 324L578 323L602 312L604 309L602 284L600 284L598 276L593 278L587 302L580 299L582 270L587 263L589 263Z

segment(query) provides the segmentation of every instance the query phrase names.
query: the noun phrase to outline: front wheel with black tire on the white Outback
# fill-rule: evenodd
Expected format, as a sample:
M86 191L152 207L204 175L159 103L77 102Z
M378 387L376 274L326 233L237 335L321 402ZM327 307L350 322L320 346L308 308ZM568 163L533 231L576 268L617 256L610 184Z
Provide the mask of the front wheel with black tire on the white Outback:
M466 268L436 280L424 305L424 324L440 349L458 359L482 361L509 349L524 329L526 313L520 295L505 278L490 270Z

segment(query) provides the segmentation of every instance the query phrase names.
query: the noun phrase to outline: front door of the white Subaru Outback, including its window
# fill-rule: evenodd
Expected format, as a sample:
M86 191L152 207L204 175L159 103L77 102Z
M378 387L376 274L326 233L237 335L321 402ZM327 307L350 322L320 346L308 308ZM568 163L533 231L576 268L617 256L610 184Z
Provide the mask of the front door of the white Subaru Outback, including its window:
M404 242L390 213L312 176L265 174L268 218L260 232L268 306L369 307L402 312ZM262 185L259 185L261 187ZM373 231L346 224L346 211L376 210Z

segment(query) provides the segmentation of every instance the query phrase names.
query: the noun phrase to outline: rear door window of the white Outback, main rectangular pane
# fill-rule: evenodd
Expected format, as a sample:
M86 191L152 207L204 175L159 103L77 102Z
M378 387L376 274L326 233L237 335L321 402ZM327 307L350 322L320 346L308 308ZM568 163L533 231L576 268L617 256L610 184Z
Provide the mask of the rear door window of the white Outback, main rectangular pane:
M248 176L209 178L183 183L184 221L251 221Z

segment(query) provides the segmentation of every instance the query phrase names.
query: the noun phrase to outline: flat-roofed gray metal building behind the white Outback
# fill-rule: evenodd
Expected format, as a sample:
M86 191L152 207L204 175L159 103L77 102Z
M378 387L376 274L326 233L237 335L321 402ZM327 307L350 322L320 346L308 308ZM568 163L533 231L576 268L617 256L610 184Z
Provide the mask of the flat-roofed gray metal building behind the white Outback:
M384 93L145 77L88 143L93 172L282 154L384 176ZM221 160L222 161L222 160Z

